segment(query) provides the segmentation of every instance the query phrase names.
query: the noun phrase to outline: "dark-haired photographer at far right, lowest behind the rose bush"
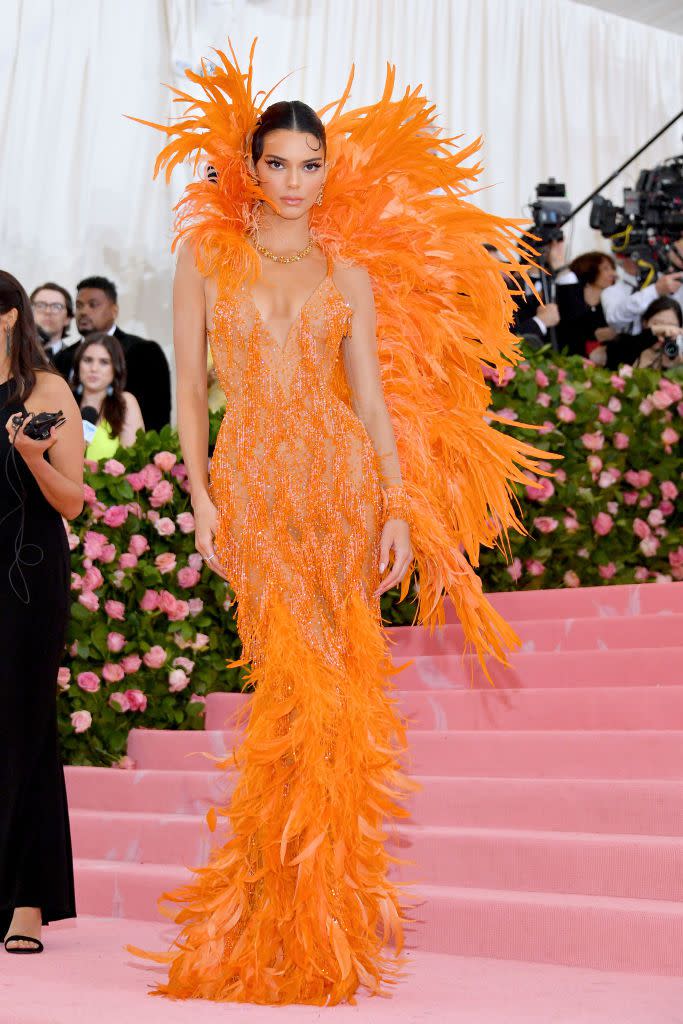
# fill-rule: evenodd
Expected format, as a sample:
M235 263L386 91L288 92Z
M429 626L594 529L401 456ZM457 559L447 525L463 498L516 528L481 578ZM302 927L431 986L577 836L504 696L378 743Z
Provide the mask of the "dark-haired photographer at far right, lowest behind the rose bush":
M610 370L616 370L623 362L655 370L683 366L683 309L680 303L669 296L655 299L643 312L640 333L621 334L605 349Z

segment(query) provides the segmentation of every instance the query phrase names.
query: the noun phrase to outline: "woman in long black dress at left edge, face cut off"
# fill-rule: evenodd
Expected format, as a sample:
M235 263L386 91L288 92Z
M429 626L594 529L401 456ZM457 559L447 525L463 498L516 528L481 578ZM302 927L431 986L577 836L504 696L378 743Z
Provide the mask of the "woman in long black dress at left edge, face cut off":
M57 410L66 422L46 440L25 433ZM61 517L82 507L78 406L42 353L26 292L0 270L0 937L13 953L40 952L41 925L76 915L56 692L70 604Z

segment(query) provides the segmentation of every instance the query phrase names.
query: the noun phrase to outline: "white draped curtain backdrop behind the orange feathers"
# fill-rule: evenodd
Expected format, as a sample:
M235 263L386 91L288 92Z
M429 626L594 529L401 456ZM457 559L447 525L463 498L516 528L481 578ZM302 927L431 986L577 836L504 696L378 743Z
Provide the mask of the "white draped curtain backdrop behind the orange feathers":
M484 136L484 208L517 216L537 181L574 203L681 105L683 38L572 0L0 0L0 266L28 289L112 276L121 324L170 345L171 206L151 175L182 83L228 34L259 87L319 106L356 63L351 101L377 97L385 61L422 82L449 133ZM639 167L680 153L683 121ZM587 215L574 254L604 246Z

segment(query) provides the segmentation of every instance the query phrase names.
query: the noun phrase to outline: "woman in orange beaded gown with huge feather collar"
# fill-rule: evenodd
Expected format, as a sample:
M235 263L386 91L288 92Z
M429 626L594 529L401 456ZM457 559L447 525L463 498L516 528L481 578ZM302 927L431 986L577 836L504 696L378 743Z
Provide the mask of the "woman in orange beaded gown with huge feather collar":
M168 965L160 994L334 1004L399 966L385 822L410 785L379 598L408 589L411 527L419 621L445 590L480 655L515 639L470 564L519 526L511 482L533 466L484 419L481 360L519 353L481 243L515 249L463 201L467 153L419 90L392 100L391 69L376 108L343 115L344 97L325 126L301 102L258 103L251 63L219 57L188 73L206 98L179 94L188 116L162 128L159 166L209 165L179 208L178 427L197 546L237 595L253 693L223 763L240 771L229 838L167 894L182 907L169 952L134 951ZM207 337L226 398L210 480Z

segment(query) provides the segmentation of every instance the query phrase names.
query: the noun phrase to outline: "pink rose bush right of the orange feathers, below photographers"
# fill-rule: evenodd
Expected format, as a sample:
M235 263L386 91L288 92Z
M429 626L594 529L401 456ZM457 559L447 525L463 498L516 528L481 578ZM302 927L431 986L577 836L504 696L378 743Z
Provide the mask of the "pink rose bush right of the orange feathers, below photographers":
M680 371L615 374L537 352L500 383L486 377L492 409L514 414L501 429L562 461L518 488L528 536L512 535L509 555L482 552L484 590L683 580Z

